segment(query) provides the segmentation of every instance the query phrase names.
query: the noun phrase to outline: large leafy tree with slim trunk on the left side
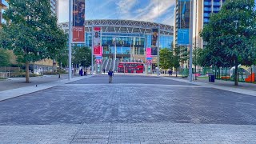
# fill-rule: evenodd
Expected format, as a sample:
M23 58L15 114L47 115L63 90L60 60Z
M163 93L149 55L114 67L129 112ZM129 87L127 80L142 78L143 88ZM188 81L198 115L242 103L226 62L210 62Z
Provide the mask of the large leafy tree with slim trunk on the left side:
M49 0L10 0L3 13L6 24L0 33L0 46L22 55L26 62L26 82L30 82L29 65L49 58L57 18L51 14Z

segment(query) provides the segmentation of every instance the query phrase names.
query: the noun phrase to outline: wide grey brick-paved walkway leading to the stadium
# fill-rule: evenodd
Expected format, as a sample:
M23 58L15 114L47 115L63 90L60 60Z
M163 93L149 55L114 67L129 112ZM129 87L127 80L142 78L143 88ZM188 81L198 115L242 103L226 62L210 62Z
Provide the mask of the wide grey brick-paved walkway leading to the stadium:
M256 143L256 97L97 75L0 102L0 143Z

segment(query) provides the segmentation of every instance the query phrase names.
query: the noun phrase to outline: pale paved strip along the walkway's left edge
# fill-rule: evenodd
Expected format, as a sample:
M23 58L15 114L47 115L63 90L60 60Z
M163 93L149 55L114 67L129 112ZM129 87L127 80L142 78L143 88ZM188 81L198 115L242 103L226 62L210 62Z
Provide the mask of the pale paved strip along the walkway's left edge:
M0 92L0 102L4 101L6 99L10 99L10 98L16 98L16 97L22 96L24 94L30 94L30 93L34 93L34 92L37 92L40 90L46 90L46 89L52 88L54 86L61 86L63 84L69 83L69 82L74 82L74 81L78 81L81 79L90 78L92 76L93 75L90 75L87 77L76 77L76 78L72 78L70 81L68 79L62 79L62 80L58 80L56 82L43 83L38 86L26 86L26 87L21 87L18 89L13 89L13 90L1 91Z

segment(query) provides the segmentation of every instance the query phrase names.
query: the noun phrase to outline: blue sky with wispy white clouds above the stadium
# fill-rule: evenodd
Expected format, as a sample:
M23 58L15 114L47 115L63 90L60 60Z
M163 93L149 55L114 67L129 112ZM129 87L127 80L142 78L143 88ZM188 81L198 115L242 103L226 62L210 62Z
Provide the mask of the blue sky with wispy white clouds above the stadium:
M59 22L68 21L68 1L59 0ZM130 19L173 25L174 4L175 0L86 0L86 19Z

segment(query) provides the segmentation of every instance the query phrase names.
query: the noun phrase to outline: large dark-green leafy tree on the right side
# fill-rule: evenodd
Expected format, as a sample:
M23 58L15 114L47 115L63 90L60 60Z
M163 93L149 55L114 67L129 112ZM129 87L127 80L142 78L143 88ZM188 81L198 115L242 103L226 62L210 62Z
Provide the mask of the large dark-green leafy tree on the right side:
M201 33L207 42L206 64L235 66L235 86L238 64L250 66L255 61L255 19L254 0L226 0L218 14L211 14Z

